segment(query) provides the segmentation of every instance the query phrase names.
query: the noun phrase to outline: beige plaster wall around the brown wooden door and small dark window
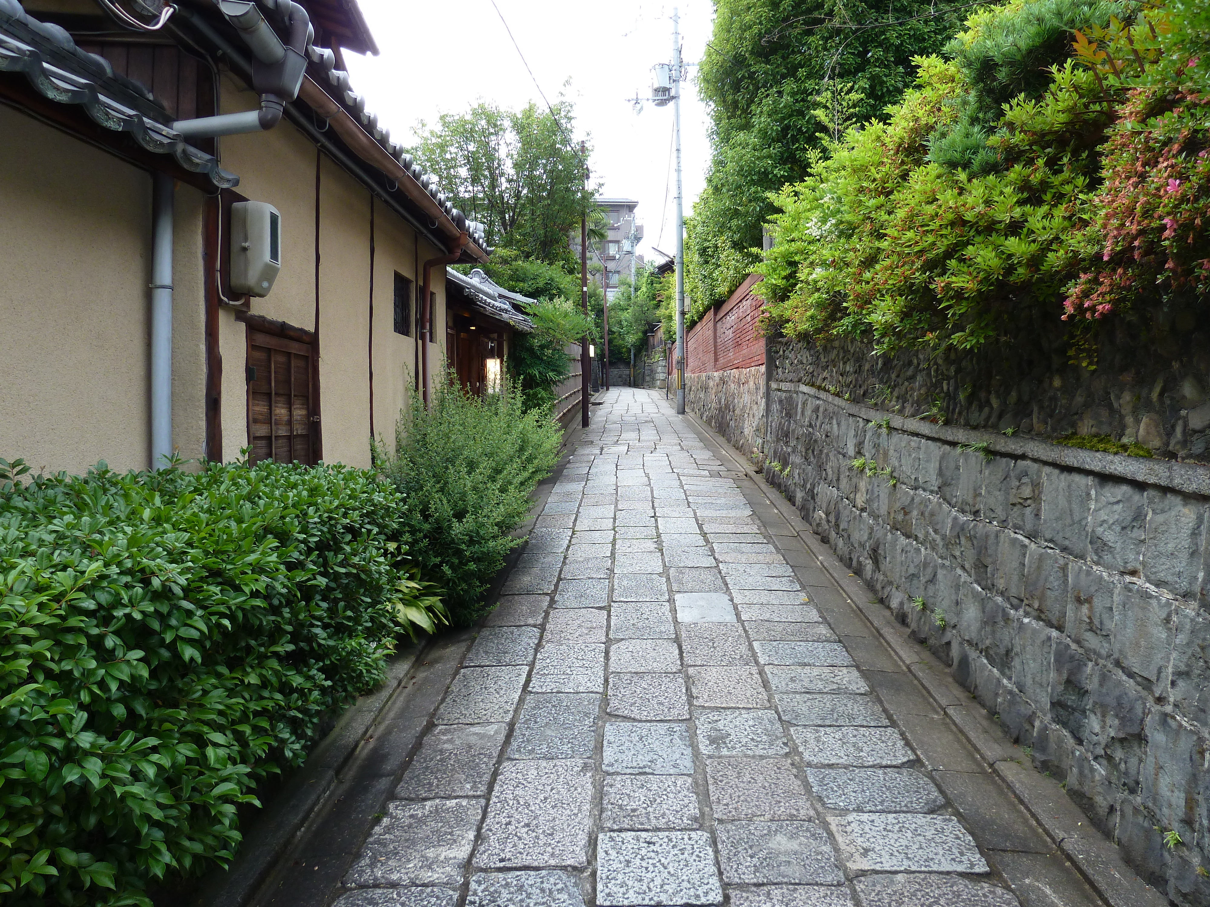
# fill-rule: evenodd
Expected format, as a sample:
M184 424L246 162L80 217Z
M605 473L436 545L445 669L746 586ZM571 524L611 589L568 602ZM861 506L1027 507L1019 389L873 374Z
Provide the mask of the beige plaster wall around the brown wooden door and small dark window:
M257 99L227 77L221 112L250 110ZM252 311L315 329L315 177L317 154L283 121L269 133L223 139L224 168L240 174L238 191L282 213L282 271L273 291ZM327 462L370 464L369 276L370 193L327 156L319 157L319 412ZM415 382L416 342L393 328L394 272L416 282L427 259L442 254L381 202L374 206L374 431L393 449L394 424ZM433 268L431 371L440 374L445 339L445 270ZM419 295L417 295L419 299ZM246 329L232 311L220 312L223 353L223 456L248 444Z

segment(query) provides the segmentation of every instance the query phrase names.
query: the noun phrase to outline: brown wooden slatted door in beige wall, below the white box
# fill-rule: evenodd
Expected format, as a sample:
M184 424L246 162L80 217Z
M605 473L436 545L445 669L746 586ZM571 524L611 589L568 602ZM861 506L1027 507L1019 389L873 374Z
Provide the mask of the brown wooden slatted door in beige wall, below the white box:
M248 330L248 440L252 463L315 466L311 343Z

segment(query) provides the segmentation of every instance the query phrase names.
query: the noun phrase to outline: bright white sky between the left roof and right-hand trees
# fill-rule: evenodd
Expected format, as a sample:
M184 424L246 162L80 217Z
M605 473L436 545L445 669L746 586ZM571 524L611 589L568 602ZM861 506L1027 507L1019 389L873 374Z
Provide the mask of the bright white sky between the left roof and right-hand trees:
M414 141L420 120L466 110L479 100L505 108L542 103L491 0L401 2L358 0L379 44L379 57L346 54L353 91L401 144ZM537 83L552 103L560 91L576 105L576 140L594 146L592 169L601 193L639 201L645 238L640 253L675 247L676 183L673 108L645 104L635 116L628 98L650 94L651 67L672 62L673 4L638 2L626 11L566 0L496 0ZM680 0L681 44L688 64L702 59L710 35L710 0ZM697 67L681 102L685 213L705 181L709 139L697 97ZM566 88L564 82L571 80ZM664 201L667 191L667 203ZM661 227L663 238L661 239Z

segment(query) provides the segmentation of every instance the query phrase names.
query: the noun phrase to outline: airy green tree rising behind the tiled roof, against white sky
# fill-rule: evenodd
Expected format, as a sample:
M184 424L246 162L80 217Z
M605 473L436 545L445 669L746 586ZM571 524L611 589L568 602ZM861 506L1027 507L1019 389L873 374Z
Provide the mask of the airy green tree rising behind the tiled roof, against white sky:
M584 158L570 139L574 123L567 100L553 112L480 102L433 125L421 122L411 152L454 204L484 225L489 245L570 271L567 238L595 208Z

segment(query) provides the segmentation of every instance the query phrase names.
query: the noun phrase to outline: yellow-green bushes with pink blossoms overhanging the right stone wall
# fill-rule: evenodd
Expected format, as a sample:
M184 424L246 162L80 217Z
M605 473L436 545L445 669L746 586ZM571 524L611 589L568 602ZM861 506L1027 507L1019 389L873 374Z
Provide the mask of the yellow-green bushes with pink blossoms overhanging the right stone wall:
M955 59L918 58L887 122L849 131L777 196L757 268L771 320L877 352L969 351L1079 314L1071 352L1094 365L1089 319L1137 299L1204 304L1210 13L1170 0L1129 28L1116 8L1014 0L972 16ZM1035 71L1058 35L1077 58ZM997 105L995 121L972 114Z

